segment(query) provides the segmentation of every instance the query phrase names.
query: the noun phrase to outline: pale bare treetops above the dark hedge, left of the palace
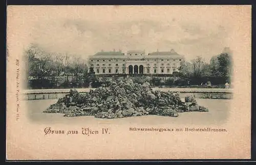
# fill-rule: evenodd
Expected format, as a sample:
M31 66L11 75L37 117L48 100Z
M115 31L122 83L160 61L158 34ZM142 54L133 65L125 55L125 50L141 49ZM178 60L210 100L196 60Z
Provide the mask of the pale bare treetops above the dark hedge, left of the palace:
M70 54L52 53L30 46L25 51L28 75L36 78L47 76L79 76L87 73L86 62Z

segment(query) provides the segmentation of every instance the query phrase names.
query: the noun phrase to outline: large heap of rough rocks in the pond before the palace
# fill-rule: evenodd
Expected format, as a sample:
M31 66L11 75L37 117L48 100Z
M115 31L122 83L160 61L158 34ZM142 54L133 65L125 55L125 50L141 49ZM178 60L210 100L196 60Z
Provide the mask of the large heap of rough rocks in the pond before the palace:
M143 115L178 117L178 113L191 111L208 112L208 109L198 105L193 96L186 96L183 102L178 94L154 91L148 82L141 85L129 79L112 82L110 87L100 87L88 93L70 90L45 113L112 119Z

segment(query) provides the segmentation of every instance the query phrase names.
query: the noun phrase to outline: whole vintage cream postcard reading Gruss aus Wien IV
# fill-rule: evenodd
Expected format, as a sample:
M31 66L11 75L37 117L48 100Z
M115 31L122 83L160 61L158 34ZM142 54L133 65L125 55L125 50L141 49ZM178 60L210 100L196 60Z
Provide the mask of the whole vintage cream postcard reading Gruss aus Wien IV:
M7 160L250 159L251 6L8 6Z

